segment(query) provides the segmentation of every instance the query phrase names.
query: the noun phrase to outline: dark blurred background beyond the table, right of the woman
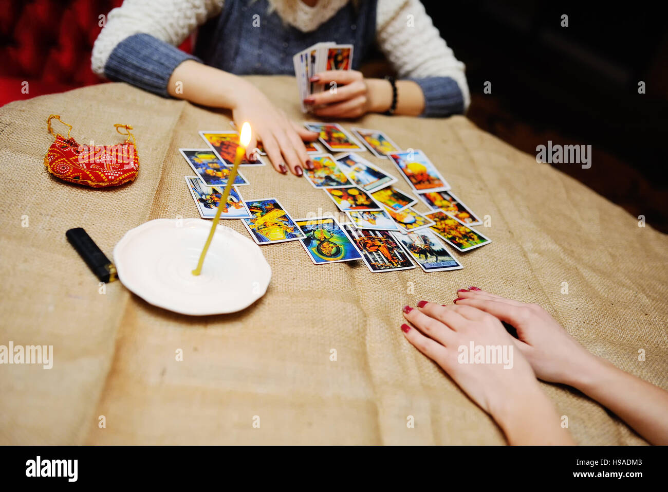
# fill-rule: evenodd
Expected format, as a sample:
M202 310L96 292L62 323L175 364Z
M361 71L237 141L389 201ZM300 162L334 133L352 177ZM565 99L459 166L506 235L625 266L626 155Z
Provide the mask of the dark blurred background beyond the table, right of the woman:
M552 166L668 232L663 9L651 2L422 3L466 64L474 123L534 155L548 140L591 144L591 168ZM645 94L638 94L641 80ZM483 93L485 81L492 94Z

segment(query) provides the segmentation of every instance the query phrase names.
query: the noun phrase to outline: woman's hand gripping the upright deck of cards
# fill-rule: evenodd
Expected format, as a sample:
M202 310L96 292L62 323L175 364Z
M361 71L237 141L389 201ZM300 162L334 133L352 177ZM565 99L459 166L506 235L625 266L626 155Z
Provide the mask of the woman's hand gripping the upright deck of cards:
M357 70L327 70L315 74L311 82L323 84L323 92L304 100L313 105L317 116L358 118L367 112L387 111L392 102L387 80L366 79Z

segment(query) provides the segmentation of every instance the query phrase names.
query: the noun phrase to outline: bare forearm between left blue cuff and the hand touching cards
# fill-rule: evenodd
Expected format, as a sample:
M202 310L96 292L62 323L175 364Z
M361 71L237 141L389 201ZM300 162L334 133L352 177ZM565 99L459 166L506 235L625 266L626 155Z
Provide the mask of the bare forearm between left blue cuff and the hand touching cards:
M189 59L172 72L167 91L173 98L202 106L234 109L249 85L234 74Z

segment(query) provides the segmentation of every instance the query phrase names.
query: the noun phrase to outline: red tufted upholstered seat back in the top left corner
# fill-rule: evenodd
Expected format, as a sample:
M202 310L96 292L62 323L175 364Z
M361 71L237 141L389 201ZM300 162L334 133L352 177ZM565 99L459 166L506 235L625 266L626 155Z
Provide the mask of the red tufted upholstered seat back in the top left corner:
M0 106L102 82L90 69L90 53L100 15L106 19L121 3L0 0Z

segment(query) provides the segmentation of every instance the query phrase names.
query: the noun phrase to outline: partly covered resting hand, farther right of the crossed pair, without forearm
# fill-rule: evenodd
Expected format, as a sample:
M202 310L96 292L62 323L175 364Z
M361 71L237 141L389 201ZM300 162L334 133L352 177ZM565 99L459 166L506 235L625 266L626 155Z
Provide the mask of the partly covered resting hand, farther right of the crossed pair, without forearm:
M517 348L538 378L577 386L576 378L589 372L597 357L587 352L538 304L506 299L478 287L460 289L456 304L477 307L517 330Z

